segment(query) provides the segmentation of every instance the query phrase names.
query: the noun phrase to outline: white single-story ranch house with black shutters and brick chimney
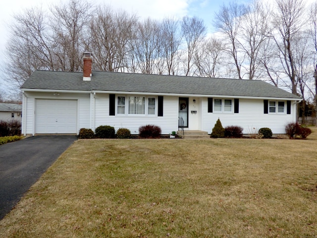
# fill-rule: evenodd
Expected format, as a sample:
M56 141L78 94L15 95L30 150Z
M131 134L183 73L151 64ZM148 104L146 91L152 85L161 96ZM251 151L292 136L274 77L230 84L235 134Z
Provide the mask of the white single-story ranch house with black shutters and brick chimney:
M269 127L285 133L296 121L302 99L259 80L91 71L84 55L84 73L35 71L22 85L22 133L78 134L110 125L132 134L155 124L162 134L211 130L219 118L223 127L238 125L244 134Z

